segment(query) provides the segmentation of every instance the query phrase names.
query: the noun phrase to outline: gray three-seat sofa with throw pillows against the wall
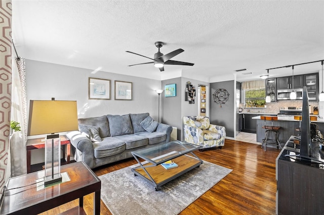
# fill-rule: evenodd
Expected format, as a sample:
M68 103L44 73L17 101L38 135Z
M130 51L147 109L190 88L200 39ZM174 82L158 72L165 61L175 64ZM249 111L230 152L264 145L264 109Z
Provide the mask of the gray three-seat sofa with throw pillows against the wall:
M96 168L132 157L132 151L170 142L172 126L148 113L78 119L79 131L67 133L74 159Z

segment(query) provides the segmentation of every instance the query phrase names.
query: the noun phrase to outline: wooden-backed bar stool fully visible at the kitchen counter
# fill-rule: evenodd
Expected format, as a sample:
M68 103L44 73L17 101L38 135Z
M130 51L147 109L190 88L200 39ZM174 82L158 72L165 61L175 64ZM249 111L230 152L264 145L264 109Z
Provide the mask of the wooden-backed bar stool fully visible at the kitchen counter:
M261 120L264 120L264 126L262 128L265 129L265 138L262 140L261 148L264 147L264 151L266 151L266 144L276 144L277 149L282 148L280 145L280 141L278 140L278 130L280 126L273 126L273 121L278 120L276 116L260 116ZM271 121L271 125L266 125L266 121ZM269 135L273 134L274 139L270 139Z

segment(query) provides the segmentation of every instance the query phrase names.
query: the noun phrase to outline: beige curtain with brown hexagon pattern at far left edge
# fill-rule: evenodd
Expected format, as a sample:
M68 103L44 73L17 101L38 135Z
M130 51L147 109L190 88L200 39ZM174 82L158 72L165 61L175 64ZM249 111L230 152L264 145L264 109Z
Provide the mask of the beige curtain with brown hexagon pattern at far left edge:
M7 182L8 148L11 111L11 0L0 1L0 193Z

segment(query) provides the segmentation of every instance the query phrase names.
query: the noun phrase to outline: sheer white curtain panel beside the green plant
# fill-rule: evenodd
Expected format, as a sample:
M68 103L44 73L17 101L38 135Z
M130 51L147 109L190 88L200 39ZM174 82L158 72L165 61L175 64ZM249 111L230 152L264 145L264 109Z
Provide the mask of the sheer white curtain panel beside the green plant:
M11 177L27 173L27 101L25 59L16 58L12 66L11 120L20 123L21 131L10 137Z

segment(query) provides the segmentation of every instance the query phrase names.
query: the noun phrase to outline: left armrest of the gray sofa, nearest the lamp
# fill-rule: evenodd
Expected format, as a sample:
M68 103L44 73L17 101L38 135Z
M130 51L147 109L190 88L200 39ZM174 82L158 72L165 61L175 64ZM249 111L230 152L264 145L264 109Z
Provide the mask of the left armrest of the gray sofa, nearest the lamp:
M82 134L79 131L68 132L66 136L70 139L71 144L76 149L75 160L77 162L85 162L90 168L94 167L95 152L92 141L85 134Z

